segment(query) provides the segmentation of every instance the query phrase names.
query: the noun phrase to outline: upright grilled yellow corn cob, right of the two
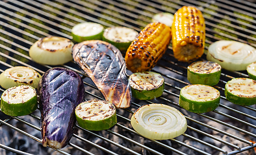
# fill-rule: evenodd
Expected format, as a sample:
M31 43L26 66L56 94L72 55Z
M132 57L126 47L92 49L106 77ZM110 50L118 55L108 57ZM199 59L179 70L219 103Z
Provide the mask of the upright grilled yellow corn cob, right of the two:
M193 61L203 55L205 19L198 8L183 6L174 14L172 48L178 61Z

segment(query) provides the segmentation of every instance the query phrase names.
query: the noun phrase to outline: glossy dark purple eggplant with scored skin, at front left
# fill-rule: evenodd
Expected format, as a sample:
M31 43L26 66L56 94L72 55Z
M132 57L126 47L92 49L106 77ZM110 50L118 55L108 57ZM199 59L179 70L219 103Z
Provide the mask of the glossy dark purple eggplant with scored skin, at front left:
M61 149L73 135L75 107L84 100L83 80L68 68L51 68L40 79L38 95L42 144Z

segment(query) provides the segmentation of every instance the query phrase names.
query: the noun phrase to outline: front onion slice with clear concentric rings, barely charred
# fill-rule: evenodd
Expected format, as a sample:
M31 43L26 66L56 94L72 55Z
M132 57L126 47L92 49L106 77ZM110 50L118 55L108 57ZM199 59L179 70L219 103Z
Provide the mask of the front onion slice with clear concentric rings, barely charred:
M131 117L131 125L149 139L175 138L186 131L186 118L176 108L153 103L138 108Z

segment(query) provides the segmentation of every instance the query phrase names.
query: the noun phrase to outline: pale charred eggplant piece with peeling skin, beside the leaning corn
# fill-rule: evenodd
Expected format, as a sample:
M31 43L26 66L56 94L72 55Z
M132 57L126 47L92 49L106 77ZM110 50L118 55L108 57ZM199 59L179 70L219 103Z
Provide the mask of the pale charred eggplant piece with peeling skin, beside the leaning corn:
M73 47L73 59L94 81L107 101L116 108L130 107L131 88L118 48L105 41L83 41Z

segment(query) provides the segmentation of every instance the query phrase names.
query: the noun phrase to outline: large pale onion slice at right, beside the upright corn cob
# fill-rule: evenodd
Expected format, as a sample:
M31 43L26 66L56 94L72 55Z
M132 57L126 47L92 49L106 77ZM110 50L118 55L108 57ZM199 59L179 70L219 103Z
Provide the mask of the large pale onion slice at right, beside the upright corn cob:
M207 60L220 64L226 70L246 70L256 61L256 49L238 41L216 41L208 48Z

